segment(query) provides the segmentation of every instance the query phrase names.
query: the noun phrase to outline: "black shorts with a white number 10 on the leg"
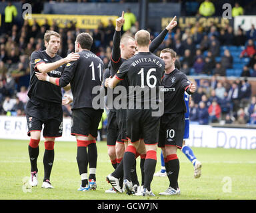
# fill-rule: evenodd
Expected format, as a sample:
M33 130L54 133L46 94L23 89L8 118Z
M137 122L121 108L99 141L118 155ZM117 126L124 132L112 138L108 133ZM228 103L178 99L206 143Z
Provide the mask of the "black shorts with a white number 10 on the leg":
M160 120L158 146L177 146L177 148L182 148L184 130L185 115L183 112L163 114Z

